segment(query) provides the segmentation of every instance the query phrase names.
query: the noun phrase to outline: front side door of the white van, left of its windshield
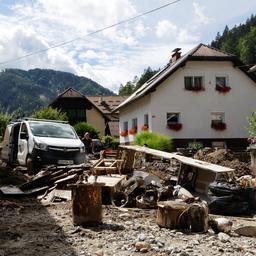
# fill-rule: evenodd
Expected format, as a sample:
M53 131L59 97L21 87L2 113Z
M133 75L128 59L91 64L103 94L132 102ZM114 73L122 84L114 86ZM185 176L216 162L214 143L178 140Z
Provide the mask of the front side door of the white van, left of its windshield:
M21 124L18 140L18 162L26 165L28 155L28 129L25 123Z

